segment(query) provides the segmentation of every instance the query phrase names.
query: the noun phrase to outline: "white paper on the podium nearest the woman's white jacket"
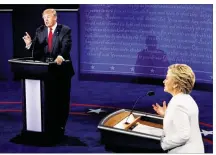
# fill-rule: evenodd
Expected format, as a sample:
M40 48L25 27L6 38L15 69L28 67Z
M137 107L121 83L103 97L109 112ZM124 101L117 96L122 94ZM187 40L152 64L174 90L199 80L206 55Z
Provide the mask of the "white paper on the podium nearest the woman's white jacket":
M163 133L163 129L151 127L140 123L135 128L133 128L132 131L141 132L141 133L159 136L159 137L162 136Z

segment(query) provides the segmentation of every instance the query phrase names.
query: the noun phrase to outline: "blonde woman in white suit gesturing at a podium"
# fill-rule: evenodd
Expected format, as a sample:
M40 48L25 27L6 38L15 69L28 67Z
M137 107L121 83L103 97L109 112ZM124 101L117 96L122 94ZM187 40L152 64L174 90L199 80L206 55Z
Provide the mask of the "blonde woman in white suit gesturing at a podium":
M199 109L189 95L195 83L194 72L185 64L171 65L163 83L164 91L173 97L167 107L165 101L162 107L158 103L152 105L164 117L162 149L168 153L204 153Z

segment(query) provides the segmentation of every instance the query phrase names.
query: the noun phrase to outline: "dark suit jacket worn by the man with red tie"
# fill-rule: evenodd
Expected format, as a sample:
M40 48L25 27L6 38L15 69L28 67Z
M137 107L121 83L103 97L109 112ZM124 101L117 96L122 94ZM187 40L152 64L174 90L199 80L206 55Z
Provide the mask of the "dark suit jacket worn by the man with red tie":
M36 30L35 38L30 50L34 52L34 59L45 61L47 58L56 59L58 55L65 60L71 60L70 50L72 46L71 29L68 26L58 24L53 33L52 51L48 51L48 28L45 25ZM72 62L67 65L66 72L74 75Z

